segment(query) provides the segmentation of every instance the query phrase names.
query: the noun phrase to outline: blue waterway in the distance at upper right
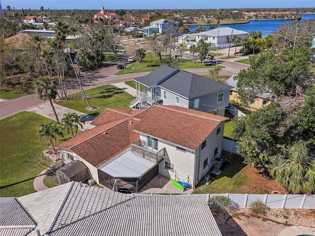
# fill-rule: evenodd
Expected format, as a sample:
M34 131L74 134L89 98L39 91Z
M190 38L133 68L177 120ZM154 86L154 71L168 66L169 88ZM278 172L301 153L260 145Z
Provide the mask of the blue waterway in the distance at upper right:
M300 23L304 20L310 20L315 18L315 14L313 15L302 15L303 19L300 21ZM233 29L243 30L246 32L249 32L251 30L253 31L261 31L263 36L267 36L270 34L273 30L277 30L281 27L282 24L285 22L292 23L294 20L257 20L257 21L251 21L250 23L246 24L238 24L238 25L222 25L222 27L230 27ZM190 32L193 32L195 29L197 29L198 26L190 26ZM206 27L206 30L208 30L209 27Z

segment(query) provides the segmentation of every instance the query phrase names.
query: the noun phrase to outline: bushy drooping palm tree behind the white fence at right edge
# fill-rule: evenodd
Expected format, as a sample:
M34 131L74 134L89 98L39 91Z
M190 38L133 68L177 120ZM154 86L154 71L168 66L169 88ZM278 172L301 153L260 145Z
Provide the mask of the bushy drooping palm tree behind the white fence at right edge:
M281 152L271 157L270 174L294 194L315 193L315 159L307 142L300 140L289 148L280 148Z

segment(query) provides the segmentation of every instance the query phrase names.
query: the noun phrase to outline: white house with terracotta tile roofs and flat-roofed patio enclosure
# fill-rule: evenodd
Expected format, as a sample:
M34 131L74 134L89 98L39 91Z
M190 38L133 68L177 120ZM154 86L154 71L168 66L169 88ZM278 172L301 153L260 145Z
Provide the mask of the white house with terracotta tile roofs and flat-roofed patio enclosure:
M178 174L193 188L221 156L227 118L179 106L105 109L88 130L58 145L64 163L80 160L89 178L139 192L158 174Z

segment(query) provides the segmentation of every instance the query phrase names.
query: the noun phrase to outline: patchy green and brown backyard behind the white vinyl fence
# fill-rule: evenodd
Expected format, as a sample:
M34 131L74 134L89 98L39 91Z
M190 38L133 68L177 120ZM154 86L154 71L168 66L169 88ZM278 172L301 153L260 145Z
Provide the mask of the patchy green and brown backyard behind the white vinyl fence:
M243 157L229 155L229 163L225 164L219 176L211 174L211 183L199 183L193 193L248 193L270 194L273 190L286 193L286 189L276 180L263 177L257 169L243 163Z

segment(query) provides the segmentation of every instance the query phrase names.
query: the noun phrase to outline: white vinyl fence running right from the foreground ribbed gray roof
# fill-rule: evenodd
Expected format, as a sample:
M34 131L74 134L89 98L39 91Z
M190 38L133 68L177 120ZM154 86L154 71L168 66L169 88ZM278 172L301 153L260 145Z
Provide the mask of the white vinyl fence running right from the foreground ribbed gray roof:
M207 194L207 200L218 195L228 197L240 208L250 208L252 201L259 199L269 208L315 209L314 194Z

